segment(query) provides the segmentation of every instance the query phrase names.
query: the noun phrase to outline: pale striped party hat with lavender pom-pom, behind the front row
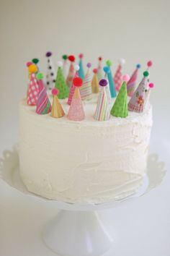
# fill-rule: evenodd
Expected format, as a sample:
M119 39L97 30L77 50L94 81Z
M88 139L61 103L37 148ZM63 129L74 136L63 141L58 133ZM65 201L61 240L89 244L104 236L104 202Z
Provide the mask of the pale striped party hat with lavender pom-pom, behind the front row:
M84 84L83 86L81 87L81 99L82 100L89 100L91 98L91 93L92 93L92 90L91 90L91 63L87 63L86 67L88 68L87 69L87 72L86 72L86 75L85 75L85 78L84 78Z

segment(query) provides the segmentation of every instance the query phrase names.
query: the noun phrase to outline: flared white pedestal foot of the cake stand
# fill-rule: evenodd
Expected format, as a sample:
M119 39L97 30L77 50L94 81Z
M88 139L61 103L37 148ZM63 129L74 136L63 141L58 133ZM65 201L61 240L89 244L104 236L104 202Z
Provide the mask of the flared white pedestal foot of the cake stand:
M53 252L64 256L102 255L113 242L107 226L93 211L61 210L42 237Z

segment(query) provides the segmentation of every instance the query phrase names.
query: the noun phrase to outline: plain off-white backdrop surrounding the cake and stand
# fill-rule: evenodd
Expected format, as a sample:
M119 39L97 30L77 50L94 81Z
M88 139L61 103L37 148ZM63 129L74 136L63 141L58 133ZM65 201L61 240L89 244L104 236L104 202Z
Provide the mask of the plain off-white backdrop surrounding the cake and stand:
M122 0L1 0L0 1L0 150L18 141L18 103L27 88L25 63L53 51L56 64L63 54L83 52L84 63L97 57L124 57L124 72L140 62L140 78L151 59L153 132L151 153L166 162L163 184L150 194L107 211L115 225L116 256L170 255L170 2ZM140 79L139 78L139 79ZM53 204L25 197L0 182L0 256L52 256L40 239L42 226L55 215Z

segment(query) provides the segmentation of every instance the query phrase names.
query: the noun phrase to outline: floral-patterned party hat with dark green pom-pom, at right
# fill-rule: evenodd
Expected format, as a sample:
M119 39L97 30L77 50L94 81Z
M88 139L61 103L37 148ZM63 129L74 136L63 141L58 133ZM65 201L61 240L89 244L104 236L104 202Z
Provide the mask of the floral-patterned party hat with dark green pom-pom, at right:
M133 93L132 98L128 103L128 109L134 112L143 112L145 105L146 91L148 89L148 71L143 72L143 80L138 85L138 88Z

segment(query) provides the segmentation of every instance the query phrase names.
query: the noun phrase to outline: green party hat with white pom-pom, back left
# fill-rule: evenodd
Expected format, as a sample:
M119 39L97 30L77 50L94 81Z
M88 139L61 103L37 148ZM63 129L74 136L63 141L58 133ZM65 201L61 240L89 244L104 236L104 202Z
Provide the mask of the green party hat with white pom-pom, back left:
M63 69L62 69L62 62L58 61L58 72L57 72L57 77L55 80L55 88L59 90L58 93L58 98L68 98L69 95L69 89L68 86L66 85L66 80L63 75Z

